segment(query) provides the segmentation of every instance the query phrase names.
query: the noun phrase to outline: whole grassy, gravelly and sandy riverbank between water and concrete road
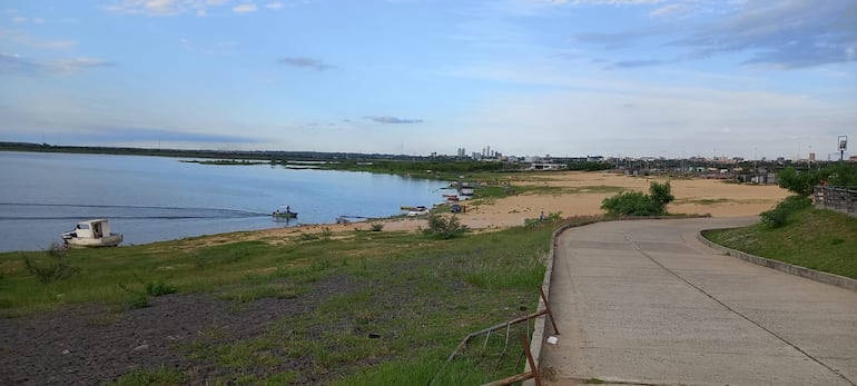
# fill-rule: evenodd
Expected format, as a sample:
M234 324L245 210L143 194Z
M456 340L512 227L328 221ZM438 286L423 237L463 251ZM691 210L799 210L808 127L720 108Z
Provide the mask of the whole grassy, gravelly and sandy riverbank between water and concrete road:
M514 374L503 334L445 364L463 336L538 305L542 258L561 222L511 227L541 211L599 214L604 197L650 180L511 177L520 194L463 202L459 218L474 232L450 240L415 232L424 219L392 218L380 220L381 232L368 231L376 221L331 224L4 254L0 347L9 355L0 368L9 372L0 383L424 385ZM716 180L671 184L671 212L751 216L785 196ZM532 326L515 328L513 336Z

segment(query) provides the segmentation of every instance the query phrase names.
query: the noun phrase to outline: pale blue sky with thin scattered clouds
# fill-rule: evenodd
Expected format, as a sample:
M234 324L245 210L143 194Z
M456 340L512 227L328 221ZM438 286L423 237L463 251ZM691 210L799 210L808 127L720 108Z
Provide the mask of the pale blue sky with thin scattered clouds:
M0 2L0 141L838 159L839 136L857 155L857 0Z

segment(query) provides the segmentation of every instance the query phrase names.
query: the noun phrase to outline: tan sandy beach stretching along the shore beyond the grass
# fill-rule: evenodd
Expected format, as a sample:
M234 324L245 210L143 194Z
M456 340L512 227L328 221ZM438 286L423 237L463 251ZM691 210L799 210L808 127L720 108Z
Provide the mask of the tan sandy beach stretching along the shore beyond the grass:
M519 176L515 176L519 177ZM496 199L465 200L465 214L459 219L474 230L490 230L524 224L536 218L560 212L562 217L603 214L601 201L620 190L648 192L651 181L669 181L676 201L667 210L671 214L710 215L712 217L755 216L777 205L789 194L776 185L731 184L718 179L670 179L666 177L633 177L610 172L544 172L521 175L513 187L548 187L552 194L520 194ZM546 190L546 189L545 189ZM416 230L425 228L424 218L392 218L382 221L383 230ZM305 225L293 228L263 230L265 236L278 234L313 232L329 228L332 231L368 229L368 222L347 225Z

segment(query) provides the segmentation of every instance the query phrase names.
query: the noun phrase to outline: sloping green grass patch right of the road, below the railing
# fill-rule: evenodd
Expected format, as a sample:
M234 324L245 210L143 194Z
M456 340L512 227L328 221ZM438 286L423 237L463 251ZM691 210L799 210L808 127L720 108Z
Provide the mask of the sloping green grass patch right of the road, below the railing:
M751 255L857 279L855 217L810 207L795 212L779 228L758 224L703 236Z

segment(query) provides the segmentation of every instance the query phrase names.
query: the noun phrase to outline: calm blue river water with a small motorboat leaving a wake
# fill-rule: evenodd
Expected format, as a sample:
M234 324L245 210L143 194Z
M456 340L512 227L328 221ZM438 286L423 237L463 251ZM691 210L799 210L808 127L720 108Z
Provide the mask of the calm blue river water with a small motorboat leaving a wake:
M77 221L108 218L122 245L188 236L384 217L441 201L449 184L268 165L175 158L0 151L0 251L40 250ZM275 222L279 205L297 220Z

